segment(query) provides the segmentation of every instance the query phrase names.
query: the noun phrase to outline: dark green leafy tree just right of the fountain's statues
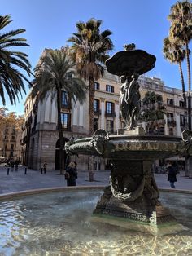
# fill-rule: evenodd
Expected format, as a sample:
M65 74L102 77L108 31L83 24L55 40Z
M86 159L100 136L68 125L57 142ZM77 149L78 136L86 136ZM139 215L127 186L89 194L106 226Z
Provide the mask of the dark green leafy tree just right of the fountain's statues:
M162 96L155 94L154 91L148 91L142 99L142 108L139 120L157 121L164 119L165 110L166 108L164 107Z

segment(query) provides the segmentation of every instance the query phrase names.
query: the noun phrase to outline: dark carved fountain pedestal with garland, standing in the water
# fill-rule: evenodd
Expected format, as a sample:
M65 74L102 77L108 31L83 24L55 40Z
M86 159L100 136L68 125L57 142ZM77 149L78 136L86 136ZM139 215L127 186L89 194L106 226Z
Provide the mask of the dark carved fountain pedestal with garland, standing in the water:
M152 161L118 159L112 163L111 185L105 188L94 214L155 225L176 222L159 202Z

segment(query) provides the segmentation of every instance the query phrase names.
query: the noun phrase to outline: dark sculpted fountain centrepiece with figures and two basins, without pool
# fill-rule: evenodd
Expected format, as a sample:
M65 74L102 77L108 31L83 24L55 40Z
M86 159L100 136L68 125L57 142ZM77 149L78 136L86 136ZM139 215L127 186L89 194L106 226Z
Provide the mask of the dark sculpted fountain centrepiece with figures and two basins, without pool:
M134 44L125 46L125 50L106 61L108 72L119 76L122 82L120 113L126 123L125 129L118 135L97 130L91 138L69 142L66 149L71 154L95 155L111 161L110 186L104 189L96 205L95 217L123 227L134 228L142 223L145 224L142 228L153 233L164 226L169 226L169 232L171 229L175 232L181 226L159 201L151 165L155 159L189 150L186 147L188 132L185 131L183 142L179 137L146 135L142 127L137 126L140 110L137 78L154 68L156 58L146 51L135 50Z

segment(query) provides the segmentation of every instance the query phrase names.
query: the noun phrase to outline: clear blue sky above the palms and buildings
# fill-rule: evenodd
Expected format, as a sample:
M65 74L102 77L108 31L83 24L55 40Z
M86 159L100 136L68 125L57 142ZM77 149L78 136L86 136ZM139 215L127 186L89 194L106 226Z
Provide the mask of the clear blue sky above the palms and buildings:
M101 31L110 29L114 55L123 51L124 44L135 43L156 56L155 68L146 73L148 77L161 78L165 86L181 89L178 66L164 59L163 40L168 36L168 14L175 0L0 0L1 15L11 15L9 24L1 33L12 29L26 29L20 34L27 39L29 47L16 47L28 54L34 68L45 48L59 49L69 45L68 38L76 32L76 22L90 18L103 20ZM186 68L184 64L184 72ZM187 77L185 83L187 89ZM28 94L28 85L26 84ZM23 99L11 106L7 98L6 108L17 114L24 113ZM0 107L2 101L0 99Z

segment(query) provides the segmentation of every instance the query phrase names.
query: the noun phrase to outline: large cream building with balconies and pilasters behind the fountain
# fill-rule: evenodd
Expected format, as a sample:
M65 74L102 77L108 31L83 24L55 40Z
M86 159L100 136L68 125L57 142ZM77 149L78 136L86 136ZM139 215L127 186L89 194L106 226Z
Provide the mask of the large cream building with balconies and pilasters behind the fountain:
M184 103L181 90L164 86L159 78L146 76L139 77L140 92L143 98L147 91L155 91L163 96L166 107L164 120L155 121L153 124L142 123L147 133L181 136L184 127ZM124 128L124 121L120 117L119 108L119 77L104 73L103 78L95 82L94 99L94 130L104 129L111 135L117 134L117 130ZM40 170L43 161L47 161L48 169L59 169L59 135L57 127L57 111L55 100L51 103L48 97L42 104L37 99L32 100L30 94L25 101L24 110L24 134L23 163L30 168ZM62 95L62 123L64 141L72 136L75 139L89 135L89 97L85 104L76 106L69 101L68 95L63 91ZM149 126L151 129L149 130ZM65 155L65 158L67 156ZM172 161L175 161L172 158ZM87 170L89 159L82 156L78 166ZM185 159L179 159L183 164ZM94 169L107 168L107 161L94 159Z

